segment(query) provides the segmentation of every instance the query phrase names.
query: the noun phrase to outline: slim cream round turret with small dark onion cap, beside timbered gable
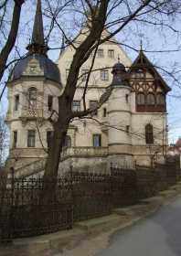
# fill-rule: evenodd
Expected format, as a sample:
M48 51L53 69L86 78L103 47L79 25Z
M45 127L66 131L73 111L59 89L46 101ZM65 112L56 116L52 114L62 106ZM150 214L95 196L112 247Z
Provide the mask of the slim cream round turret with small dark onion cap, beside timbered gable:
M108 101L108 165L133 167L131 132L131 86L122 63L112 68L112 94Z

